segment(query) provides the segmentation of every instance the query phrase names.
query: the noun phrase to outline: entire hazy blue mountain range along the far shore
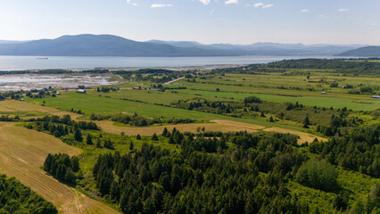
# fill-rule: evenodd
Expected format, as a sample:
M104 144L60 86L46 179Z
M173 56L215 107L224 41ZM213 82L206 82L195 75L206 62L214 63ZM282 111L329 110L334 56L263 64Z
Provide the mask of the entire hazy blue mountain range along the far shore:
M335 55L366 45L302 45L255 43L211 44L192 41L149 40L137 42L113 35L76 35L32 41L0 40L0 55L46 56L237 56L237 55Z

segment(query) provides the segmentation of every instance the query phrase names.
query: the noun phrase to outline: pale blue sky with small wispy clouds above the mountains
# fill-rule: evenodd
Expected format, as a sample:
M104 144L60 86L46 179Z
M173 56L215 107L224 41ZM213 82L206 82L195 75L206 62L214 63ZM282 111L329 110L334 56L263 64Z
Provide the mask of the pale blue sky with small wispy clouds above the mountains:
M0 39L380 45L380 0L0 0Z

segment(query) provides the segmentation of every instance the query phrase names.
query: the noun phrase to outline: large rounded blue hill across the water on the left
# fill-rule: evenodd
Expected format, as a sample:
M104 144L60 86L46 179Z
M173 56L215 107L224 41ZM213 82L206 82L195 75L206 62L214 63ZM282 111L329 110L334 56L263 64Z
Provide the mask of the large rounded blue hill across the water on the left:
M209 56L230 55L196 47L136 42L112 35L63 36L16 44L0 44L0 55L52 56Z

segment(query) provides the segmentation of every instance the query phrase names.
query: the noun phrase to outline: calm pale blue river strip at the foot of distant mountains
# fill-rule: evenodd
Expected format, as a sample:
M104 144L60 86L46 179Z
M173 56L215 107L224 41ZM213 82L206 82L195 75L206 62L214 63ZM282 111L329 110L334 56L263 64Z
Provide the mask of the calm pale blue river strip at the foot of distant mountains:
M253 64L285 59L326 58L329 55L218 56L218 57L78 57L78 56L0 56L0 70L94 69L131 67L185 67L224 64ZM342 58L342 57L341 57Z

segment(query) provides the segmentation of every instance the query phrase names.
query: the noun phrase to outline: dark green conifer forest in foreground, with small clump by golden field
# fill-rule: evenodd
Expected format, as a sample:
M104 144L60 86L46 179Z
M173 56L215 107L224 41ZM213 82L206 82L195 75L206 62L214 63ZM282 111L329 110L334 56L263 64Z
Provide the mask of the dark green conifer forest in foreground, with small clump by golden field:
M320 208L287 188L289 182L335 193L335 210L376 213L378 185L366 202L349 207L351 193L337 180L337 167L379 177L379 128L356 128L349 136L313 146L298 145L291 134L206 137L165 129L160 139L178 151L148 143L136 150L132 144L131 152L99 155L92 176L99 195L124 213L318 213ZM75 160L49 154L44 168L52 173L50 162L57 169L53 175L68 182L61 169L78 171Z

